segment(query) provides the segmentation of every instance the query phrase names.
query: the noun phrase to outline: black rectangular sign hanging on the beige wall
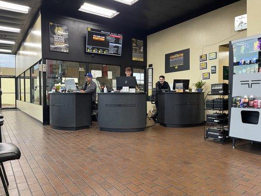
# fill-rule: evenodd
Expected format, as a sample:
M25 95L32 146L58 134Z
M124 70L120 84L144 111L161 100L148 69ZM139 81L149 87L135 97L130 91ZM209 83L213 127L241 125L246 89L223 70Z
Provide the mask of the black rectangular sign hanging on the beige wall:
M190 70L190 49L165 54L165 73Z

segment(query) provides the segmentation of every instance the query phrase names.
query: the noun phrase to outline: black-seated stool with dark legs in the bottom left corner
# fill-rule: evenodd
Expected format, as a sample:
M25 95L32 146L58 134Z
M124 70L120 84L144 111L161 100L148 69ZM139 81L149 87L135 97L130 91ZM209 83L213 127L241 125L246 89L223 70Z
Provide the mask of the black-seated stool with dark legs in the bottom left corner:
M14 144L11 144L11 143L0 143L0 164L2 166L1 167L2 170L0 169L0 177L1 177L1 181L3 183L3 188L4 188L6 196L9 196L9 193L8 193L8 190L6 187L6 185L8 185L9 183L8 183L7 176L6 176L4 167L3 167L3 162L20 159L20 157L21 157L21 152L17 146L15 146Z

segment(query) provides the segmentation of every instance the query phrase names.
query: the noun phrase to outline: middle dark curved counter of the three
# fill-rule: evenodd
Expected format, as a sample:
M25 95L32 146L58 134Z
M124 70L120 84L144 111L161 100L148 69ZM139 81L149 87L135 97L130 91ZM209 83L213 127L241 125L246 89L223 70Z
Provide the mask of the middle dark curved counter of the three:
M142 131L146 93L98 93L98 125L101 131Z

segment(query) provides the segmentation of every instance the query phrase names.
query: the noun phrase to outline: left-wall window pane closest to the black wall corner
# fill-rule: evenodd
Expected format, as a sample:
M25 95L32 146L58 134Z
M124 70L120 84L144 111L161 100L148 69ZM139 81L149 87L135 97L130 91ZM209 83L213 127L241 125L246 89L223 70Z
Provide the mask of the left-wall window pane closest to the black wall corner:
M32 67L31 95L32 103L40 105L39 64Z

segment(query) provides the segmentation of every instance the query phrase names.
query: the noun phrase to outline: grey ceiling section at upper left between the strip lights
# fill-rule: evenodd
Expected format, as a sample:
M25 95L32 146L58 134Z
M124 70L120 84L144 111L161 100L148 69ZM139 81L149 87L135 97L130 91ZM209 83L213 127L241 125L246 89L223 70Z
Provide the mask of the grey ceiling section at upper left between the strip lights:
M13 28L21 28L20 33L0 31L1 40L10 40L16 42L15 45L0 44L0 49L10 49L13 54L16 54L20 45L24 41L27 32L34 22L41 7L42 0L3 0L10 3L29 6L30 11L28 14L19 12L12 12L0 9L0 26L7 26Z

